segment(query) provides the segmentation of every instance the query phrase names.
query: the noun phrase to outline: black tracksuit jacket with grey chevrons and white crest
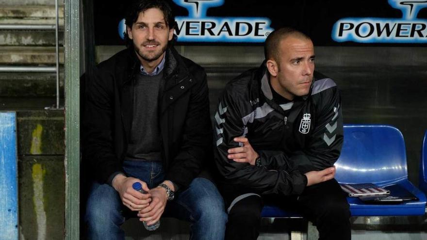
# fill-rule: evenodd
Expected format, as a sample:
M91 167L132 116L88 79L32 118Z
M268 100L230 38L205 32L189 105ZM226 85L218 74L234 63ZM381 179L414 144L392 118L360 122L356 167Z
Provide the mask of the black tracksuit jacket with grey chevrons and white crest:
M315 72L310 93L278 105L263 63L231 80L214 116L220 181L261 194L300 194L303 173L333 166L343 144L341 99L335 82ZM246 136L263 167L227 159Z

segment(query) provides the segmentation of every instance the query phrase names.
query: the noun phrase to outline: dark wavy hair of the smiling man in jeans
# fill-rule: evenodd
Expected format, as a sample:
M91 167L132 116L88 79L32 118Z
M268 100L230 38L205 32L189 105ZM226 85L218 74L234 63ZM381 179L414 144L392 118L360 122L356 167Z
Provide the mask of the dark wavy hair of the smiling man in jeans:
M131 4L128 6L125 16L125 24L126 26L132 28L132 25L138 20L138 16L140 13L145 12L150 8L157 8L162 11L164 16L164 21L166 22L166 26L169 29L175 29L177 23L175 21L175 15L170 7L170 4L167 0L132 0ZM132 40L128 36L127 29L124 32L125 41L127 46L133 46ZM169 41L169 44L173 44L173 42L177 39L177 35L174 34L172 40Z

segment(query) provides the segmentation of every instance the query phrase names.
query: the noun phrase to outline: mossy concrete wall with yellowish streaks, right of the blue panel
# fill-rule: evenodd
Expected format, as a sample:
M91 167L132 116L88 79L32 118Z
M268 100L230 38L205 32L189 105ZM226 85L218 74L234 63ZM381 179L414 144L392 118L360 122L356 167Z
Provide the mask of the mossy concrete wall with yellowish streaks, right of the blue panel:
M20 240L64 237L64 112L17 112Z

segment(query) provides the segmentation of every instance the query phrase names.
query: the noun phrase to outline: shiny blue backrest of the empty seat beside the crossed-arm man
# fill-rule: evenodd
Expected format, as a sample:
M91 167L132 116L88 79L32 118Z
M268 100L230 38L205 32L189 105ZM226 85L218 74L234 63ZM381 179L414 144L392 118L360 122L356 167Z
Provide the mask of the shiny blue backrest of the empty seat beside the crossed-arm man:
M408 178L403 135L387 125L345 125L344 145L335 166L340 183L385 186Z

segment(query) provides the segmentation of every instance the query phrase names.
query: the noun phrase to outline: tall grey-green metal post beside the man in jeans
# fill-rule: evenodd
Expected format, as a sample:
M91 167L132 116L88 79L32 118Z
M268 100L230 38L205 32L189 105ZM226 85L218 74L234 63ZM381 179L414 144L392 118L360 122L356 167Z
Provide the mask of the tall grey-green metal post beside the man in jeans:
M65 0L65 239L80 239L80 2Z

